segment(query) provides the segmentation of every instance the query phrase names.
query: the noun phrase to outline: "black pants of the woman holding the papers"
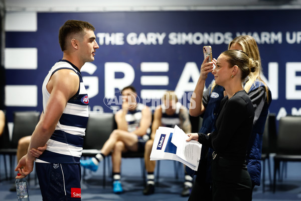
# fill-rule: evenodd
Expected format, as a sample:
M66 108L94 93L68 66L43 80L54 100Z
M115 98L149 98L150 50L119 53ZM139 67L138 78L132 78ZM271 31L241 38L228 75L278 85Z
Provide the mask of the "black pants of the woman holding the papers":
M249 201L252 182L245 161L217 156L212 160L212 200Z

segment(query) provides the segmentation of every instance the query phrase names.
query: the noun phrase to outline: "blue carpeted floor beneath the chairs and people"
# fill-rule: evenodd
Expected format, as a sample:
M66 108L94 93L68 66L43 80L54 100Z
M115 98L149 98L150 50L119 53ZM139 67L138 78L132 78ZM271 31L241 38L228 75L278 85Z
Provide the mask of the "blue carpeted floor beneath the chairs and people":
M15 179L6 180L3 156L0 156L0 200L13 201L17 199L16 192L9 191ZM288 163L287 175L281 182L277 181L276 192L272 193L269 186L269 179L266 170L265 192L262 192L262 185L256 186L253 191L253 200L301 200L301 163ZM141 177L140 160L137 158L122 159L121 181L124 193L114 194L112 192L112 181L110 171L106 171L105 187L103 186L102 174L103 166L100 165L96 172L87 170L85 179L82 179L82 200L164 200L164 201L182 201L188 197L181 197L184 182L184 168L179 166L178 179L175 178L174 162L161 161L160 179L157 183L155 193L152 195L143 195L143 179ZM84 175L84 174L83 174ZM30 177L29 196L31 201L42 200L39 185L35 184L34 175Z

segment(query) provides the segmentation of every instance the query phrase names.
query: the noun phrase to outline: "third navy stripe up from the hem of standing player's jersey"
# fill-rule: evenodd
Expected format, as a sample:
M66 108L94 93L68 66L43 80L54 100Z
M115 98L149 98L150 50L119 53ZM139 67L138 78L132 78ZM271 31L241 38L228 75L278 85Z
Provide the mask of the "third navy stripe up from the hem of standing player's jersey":
M77 115L70 115L63 113L60 118L60 124L65 126L73 126L79 128L86 128L88 124L88 117L82 117Z

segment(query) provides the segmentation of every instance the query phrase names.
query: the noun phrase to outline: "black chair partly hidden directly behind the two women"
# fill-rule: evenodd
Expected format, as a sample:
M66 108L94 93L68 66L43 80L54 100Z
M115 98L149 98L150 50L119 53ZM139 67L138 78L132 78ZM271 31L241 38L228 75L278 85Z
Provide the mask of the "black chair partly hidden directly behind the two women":
M263 161L262 165L262 192L265 191L265 161L267 161L268 165L268 176L270 187L272 185L272 176L271 176L271 167L270 167L270 153L272 151L270 144L275 139L275 127L276 127L276 117L275 114L269 114L267 116L264 132L262 136L262 151L261 151L261 160Z

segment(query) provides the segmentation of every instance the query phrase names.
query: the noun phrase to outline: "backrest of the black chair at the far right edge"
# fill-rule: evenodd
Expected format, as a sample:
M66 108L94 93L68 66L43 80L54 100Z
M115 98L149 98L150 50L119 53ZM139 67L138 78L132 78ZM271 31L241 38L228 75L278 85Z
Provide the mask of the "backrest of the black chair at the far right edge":
M279 120L276 153L301 155L301 116L286 116Z

